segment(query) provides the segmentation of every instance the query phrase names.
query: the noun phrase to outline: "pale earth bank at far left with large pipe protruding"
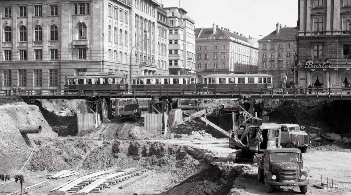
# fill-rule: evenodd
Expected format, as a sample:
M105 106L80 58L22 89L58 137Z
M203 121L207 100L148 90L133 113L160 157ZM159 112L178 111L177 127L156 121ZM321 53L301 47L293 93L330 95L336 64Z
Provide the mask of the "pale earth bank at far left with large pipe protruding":
M44 119L35 105L0 106L0 172L10 173L19 169L31 153L31 147L25 137L19 132L19 127L27 125L41 125L40 134L27 134L34 147L58 136Z

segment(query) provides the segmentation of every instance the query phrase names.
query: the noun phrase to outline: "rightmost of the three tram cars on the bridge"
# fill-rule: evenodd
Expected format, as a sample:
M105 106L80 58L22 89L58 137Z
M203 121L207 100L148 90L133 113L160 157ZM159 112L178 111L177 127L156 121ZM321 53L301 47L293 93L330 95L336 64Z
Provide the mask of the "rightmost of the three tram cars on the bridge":
M273 76L269 74L210 74L203 76L207 88L272 88Z

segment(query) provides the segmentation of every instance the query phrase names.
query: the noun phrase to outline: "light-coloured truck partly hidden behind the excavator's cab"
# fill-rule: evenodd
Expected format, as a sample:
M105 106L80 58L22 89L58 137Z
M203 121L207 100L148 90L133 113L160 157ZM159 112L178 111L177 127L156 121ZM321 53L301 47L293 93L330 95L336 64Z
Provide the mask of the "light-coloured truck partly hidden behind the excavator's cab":
M306 127L297 124L280 124L282 126L280 144L283 148L299 148L302 153L311 145L312 136L306 133Z

